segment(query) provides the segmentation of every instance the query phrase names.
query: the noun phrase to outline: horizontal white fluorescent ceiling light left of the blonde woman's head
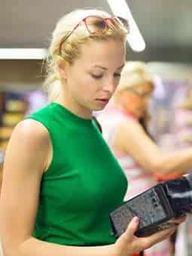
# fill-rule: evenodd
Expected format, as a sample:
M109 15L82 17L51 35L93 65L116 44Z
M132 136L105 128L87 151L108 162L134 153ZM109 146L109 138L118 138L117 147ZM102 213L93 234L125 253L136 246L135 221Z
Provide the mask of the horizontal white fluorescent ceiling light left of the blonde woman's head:
M0 60L43 60L46 56L44 48L0 48Z

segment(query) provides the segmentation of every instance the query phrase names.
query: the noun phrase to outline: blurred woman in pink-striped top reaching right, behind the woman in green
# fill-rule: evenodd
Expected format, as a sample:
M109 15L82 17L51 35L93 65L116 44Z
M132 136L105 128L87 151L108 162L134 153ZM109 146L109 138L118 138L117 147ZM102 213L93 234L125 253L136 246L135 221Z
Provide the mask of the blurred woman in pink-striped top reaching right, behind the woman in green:
M125 200L154 186L157 174L180 174L192 167L192 148L163 153L148 134L148 101L153 91L145 63L128 62L113 99L98 117L103 136L129 181ZM170 256L167 245L156 245L146 255Z

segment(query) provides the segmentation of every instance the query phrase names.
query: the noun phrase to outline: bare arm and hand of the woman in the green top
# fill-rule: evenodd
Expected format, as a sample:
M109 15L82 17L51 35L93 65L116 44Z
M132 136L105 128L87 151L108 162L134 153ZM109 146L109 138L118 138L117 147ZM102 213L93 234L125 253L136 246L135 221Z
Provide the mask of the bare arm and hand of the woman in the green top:
M47 130L25 120L14 129L5 156L0 200L0 227L5 256L130 256L170 236L164 230L145 239L134 236L138 222L132 221L114 245L78 247L43 242L32 237L38 208L41 176L50 162ZM183 221L183 220L182 220Z

